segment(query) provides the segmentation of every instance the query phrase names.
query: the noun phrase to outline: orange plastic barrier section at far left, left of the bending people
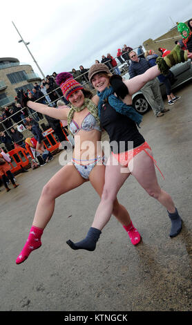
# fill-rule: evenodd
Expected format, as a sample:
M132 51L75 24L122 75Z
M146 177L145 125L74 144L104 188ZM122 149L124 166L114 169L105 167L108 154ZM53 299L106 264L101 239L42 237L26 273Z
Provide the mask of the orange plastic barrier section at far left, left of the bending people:
M27 167L29 165L29 160L26 155L26 150L23 149L22 147L17 147L15 149L12 149L11 151L8 152L11 158L11 169L10 171L12 173L15 173L15 171L19 171L21 167ZM24 159L24 160L23 160Z

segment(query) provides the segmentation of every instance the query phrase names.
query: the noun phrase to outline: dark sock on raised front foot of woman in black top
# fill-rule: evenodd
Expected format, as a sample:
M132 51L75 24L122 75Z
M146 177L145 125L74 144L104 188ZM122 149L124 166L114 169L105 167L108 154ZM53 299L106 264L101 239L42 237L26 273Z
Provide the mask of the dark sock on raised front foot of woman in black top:
M66 241L66 243L72 248L73 250L95 250L96 243L99 240L99 236L101 234L101 230L97 228L90 227L88 230L88 233L86 235L86 238L82 241L79 241L78 243L73 243L73 241Z

